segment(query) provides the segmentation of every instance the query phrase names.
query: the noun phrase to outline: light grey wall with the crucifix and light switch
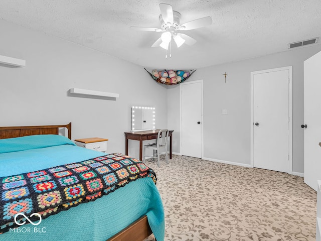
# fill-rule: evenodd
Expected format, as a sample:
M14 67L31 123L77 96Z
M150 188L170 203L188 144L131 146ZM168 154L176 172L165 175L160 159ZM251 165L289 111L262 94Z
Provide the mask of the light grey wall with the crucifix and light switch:
M303 61L320 50L321 45L316 45L198 69L187 81L204 80L204 158L250 164L250 72L293 66L292 171L303 173ZM169 88L168 128L177 130L176 153L180 153L179 95L178 86ZM228 109L228 114L222 115L222 109Z

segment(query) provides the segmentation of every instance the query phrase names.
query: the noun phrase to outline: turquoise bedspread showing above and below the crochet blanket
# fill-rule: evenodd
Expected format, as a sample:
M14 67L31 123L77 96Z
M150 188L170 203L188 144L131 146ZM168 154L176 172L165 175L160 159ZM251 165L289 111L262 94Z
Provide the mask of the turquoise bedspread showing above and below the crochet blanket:
M1 141L0 150L3 147ZM0 176L41 170L98 156L101 156L100 152L80 148L72 143L1 153ZM144 214L148 217L156 239L164 240L163 204L151 178L140 178L93 202L51 215L37 226L24 224L22 227L26 228L21 229L21 232L0 234L0 240L106 240Z

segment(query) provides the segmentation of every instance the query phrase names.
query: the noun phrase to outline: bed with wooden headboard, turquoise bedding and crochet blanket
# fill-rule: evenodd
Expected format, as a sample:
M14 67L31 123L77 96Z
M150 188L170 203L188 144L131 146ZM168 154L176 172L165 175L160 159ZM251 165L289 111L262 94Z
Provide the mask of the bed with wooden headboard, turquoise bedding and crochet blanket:
M59 131L64 128L68 130L68 138L59 135ZM71 123L56 126L0 127L0 139L2 139L0 140L0 216L2 217L0 239L134 241L143 240L153 233L156 240L164 240L164 210L161 197L155 186L156 176L148 167L146 167L148 170L141 169L138 165L144 164L140 161L120 153L104 154L77 147L71 142ZM129 170L127 173L129 175L126 174L128 178L122 179L121 182L113 186L106 186L106 180L109 179L102 178L100 184L103 187L91 186L95 192L92 195L81 196L81 200L80 198L71 199L69 202L63 203L63 199L69 198L66 190L74 191L75 188L73 188L64 189L65 194L61 195L65 196L60 198L60 202L57 201L55 206L40 201L43 200L39 197L44 189L40 189L38 184L45 183L45 174L50 174L49 178L54 178L53 174L56 178L60 177L60 185L63 183L67 188L69 184L75 183L71 182L67 185L61 181L68 180L69 182L71 180L70 176L68 179L63 179L63 176L59 176L62 175L61 173L70 172L79 181L83 177L87 178L87 176L80 176L80 174L83 175L84 170L96 175L99 167L97 165L105 167L114 164L124 167L135 164L141 172L133 172L135 175L131 175L131 169L127 168ZM67 167L70 169L65 170ZM65 169L62 171L60 168ZM94 172L91 172L93 170ZM105 169L99 170L105 171ZM22 176L28 184L33 184L33 186L29 185L27 191L24 189L24 192L21 192L23 187L21 183L24 180L17 180L19 176ZM121 176L117 177L121 179ZM27 178L29 179L27 180ZM58 179L54 181L56 181L56 185ZM72 187L75 186L76 184ZM43 188L43 185L40 187ZM48 189L46 191L50 191L51 194L56 190L55 186L46 186L46 188ZM89 190L88 185L87 189ZM26 194L29 195L26 196ZM31 198L32 195L34 199ZM38 199L36 195L38 195ZM9 208L16 208L17 202L27 200L26 197L30 197L31 200L28 199L29 204L27 204L34 209L28 210L27 204L21 208L21 203L19 203L21 209ZM12 210L17 212L15 220L13 220L14 211ZM18 215L18 212L26 215ZM41 214L41 218L37 213ZM22 225L24 221L26 223Z

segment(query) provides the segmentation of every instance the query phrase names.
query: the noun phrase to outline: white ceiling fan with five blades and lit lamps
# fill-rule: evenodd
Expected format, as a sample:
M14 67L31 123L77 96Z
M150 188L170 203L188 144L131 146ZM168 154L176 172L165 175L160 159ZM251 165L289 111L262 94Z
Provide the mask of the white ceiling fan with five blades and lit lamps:
M161 9L161 15L159 15L161 28L130 27L139 31L163 32L162 36L158 38L151 47L161 46L168 50L172 39L178 48L184 43L191 46L196 43L196 40L186 34L180 33L180 31L198 29L212 24L212 18L209 16L181 24L181 14L173 11L171 5L159 4L159 9Z

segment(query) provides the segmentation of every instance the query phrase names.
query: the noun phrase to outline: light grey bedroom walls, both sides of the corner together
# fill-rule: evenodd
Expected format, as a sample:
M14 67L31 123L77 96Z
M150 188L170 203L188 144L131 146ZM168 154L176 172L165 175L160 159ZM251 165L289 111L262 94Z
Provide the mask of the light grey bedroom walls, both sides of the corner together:
M0 55L27 66L0 65L0 126L72 122L72 139L108 138L108 152L124 152L130 106L156 107L156 127L173 133L180 153L179 85L161 85L137 65L0 20ZM198 69L204 80L204 157L250 164L250 72L293 66L293 172L303 173L303 61L320 45ZM224 83L224 73L227 81ZM117 100L68 95L70 88L119 93ZM167 105L164 104L167 99ZM228 109L228 115L221 110ZM130 141L129 155L138 157Z

